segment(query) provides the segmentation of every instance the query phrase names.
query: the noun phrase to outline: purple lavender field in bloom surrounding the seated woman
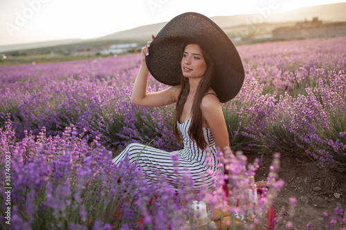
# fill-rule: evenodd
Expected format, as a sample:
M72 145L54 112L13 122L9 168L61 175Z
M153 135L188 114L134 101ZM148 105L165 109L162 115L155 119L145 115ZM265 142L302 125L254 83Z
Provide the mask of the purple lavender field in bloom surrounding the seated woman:
M345 167L345 44L346 37L339 37L237 47L246 79L239 95L223 104L232 150L310 157L319 166ZM131 142L150 142L167 151L181 148L171 131L173 106L144 108L131 104L131 86L139 66L140 55L128 55L0 67L0 175L9 176L0 182L3 201L3 188L12 187L11 225L6 225L9 206L1 202L3 226L183 226L188 213L183 203L192 200L188 191L176 195L164 180L147 189L145 180L133 180L141 178L140 169L128 162L115 166L110 161L111 150ZM149 91L167 87L152 77L148 85ZM253 175L258 167L250 165L244 171L244 161L239 153L235 162L229 162L232 175L243 175L241 182L233 181L240 179L230 175L234 186L248 185L247 175ZM10 167L6 166L8 162ZM245 229L264 225L264 209L283 186L276 178L275 160L272 169L268 194L273 196L263 198L255 207L242 207L244 212L256 210L248 211L255 216ZM188 188L191 182L181 178L181 183ZM242 191L242 186L239 189ZM233 195L246 199L236 189ZM200 196L213 204L218 200L210 194ZM345 213L338 211L331 220L345 223ZM329 226L336 227L334 222L329 221Z

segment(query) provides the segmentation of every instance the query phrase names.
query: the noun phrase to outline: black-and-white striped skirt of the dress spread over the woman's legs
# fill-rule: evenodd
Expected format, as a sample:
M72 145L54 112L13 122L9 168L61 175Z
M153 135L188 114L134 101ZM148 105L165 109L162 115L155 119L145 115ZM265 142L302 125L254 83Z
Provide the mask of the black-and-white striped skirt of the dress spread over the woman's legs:
M172 159L174 154L177 155L179 164L176 164ZM217 178L217 175L224 175L223 167L210 167L205 163L208 161L204 159L203 161L191 159L184 153L184 149L167 152L143 144L132 143L115 157L113 162L118 164L126 155L128 155L131 163L138 163L138 166L145 172L149 184L157 182L159 175L164 175L167 183L174 190L181 188L178 180L179 174L190 175L194 182L194 191L201 191L202 189L215 190L215 182L212 179Z

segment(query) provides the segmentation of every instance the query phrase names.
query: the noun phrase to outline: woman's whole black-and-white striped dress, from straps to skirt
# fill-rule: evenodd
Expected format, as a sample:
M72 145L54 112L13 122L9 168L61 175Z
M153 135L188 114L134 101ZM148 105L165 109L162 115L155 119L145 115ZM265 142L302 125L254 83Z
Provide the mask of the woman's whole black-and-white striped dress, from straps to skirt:
M194 180L194 190L207 189L214 190L212 178L221 173L224 174L224 164L221 157L217 156L217 146L209 128L203 127L204 138L207 147L201 150L188 135L191 119L184 123L178 122L178 129L183 136L184 148L179 151L167 152L158 148L145 146L143 144L129 144L122 153L113 159L118 164L127 153L130 162L138 162L138 165L147 174L148 182L156 182L157 175L165 175L167 182L173 189L181 187L177 184L177 175L174 169L178 167L179 173L189 173ZM140 153L140 154L138 154ZM173 165L172 154L179 156L178 166Z

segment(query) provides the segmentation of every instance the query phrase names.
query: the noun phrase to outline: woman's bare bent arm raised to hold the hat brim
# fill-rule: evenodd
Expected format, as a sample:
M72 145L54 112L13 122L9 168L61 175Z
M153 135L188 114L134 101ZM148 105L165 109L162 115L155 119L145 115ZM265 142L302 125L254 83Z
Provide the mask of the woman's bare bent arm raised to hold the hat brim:
M152 35L154 39L154 35ZM145 55L149 55L149 46L151 41L148 41L147 46L142 48L142 64L138 71L138 75L134 82L134 88L132 88L131 102L138 106L156 107L166 106L178 101L180 86L172 86L165 90L161 90L155 93L147 93L147 81L149 76L149 70L145 63Z

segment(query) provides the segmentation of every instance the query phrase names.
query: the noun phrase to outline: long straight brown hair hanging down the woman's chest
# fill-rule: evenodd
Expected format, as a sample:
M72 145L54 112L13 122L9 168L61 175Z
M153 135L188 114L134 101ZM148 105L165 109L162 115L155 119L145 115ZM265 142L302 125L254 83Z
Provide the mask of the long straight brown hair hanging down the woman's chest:
M187 43L183 47L183 50L181 54L183 55L183 51L185 50L185 47L189 44L193 43ZM192 140L194 140L197 143L197 146L201 149L206 148L206 140L204 139L203 135L203 126L202 126L202 113L201 113L201 101L208 92L210 88L210 84L212 82L212 76L214 75L214 61L206 52L206 50L202 50L203 59L206 61L207 70L206 73L204 73L203 78L201 79L201 82L199 82L199 85L197 86L196 94L194 95L194 102L192 104L192 121L190 128L188 130L188 133ZM176 110L173 117L172 122L172 128L174 135L176 136L176 139L179 142L182 142L181 135L178 130L177 122L179 122L179 118L181 116L181 113L183 112L184 104L186 102L186 99L188 98L188 95L190 93L190 84L189 79L187 77L183 76L183 73L181 73L181 93L179 94L178 102L176 102Z

